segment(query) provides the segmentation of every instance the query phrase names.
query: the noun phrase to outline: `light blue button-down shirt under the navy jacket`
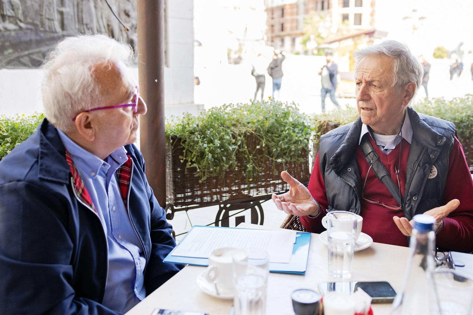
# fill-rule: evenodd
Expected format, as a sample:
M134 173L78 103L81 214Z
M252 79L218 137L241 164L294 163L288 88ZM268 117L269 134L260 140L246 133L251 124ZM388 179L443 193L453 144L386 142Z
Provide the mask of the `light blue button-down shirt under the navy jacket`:
M128 160L122 146L107 161L88 152L58 129L79 176L94 203L108 242L108 278L102 304L127 312L146 297L146 258L118 186L115 171Z

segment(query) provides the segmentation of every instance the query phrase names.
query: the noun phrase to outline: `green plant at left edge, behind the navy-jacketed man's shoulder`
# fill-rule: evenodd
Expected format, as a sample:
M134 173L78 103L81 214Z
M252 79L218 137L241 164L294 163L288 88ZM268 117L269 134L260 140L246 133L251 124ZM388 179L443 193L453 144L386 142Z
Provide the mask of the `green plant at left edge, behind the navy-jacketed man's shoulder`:
M33 116L0 115L0 160L31 136L43 119L44 114L36 112Z

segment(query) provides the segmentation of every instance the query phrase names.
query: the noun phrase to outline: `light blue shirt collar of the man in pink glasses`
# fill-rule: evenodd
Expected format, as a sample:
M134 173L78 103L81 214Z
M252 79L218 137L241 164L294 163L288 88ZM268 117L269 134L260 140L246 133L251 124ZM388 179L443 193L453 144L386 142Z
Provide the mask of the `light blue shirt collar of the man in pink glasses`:
M105 174L110 168L109 163L105 162L95 154L88 152L86 149L72 141L70 137L61 130L57 129L57 131L74 164L86 172L88 176L95 178L100 173L100 171ZM123 146L112 152L108 156L107 161L111 162L111 158L114 159L119 165L122 165L124 162L128 161L126 150Z

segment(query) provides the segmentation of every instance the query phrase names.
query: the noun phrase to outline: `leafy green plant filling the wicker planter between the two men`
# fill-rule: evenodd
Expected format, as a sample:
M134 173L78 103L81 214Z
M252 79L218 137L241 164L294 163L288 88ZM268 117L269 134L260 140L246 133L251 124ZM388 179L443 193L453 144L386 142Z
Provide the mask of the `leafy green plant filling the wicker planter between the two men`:
M310 126L296 104L253 101L225 104L182 118L166 120L166 144L181 139L186 168L195 167L200 181L244 167L247 182L257 179L264 161L302 162Z

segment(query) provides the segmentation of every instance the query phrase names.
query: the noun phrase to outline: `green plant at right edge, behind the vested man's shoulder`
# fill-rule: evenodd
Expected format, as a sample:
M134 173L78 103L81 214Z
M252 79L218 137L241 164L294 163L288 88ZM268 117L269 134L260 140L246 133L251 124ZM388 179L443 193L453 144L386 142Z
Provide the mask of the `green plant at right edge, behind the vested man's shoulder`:
M473 139L473 94L446 100L443 97L412 104L416 111L451 121L462 144ZM468 148L464 148L469 150Z

